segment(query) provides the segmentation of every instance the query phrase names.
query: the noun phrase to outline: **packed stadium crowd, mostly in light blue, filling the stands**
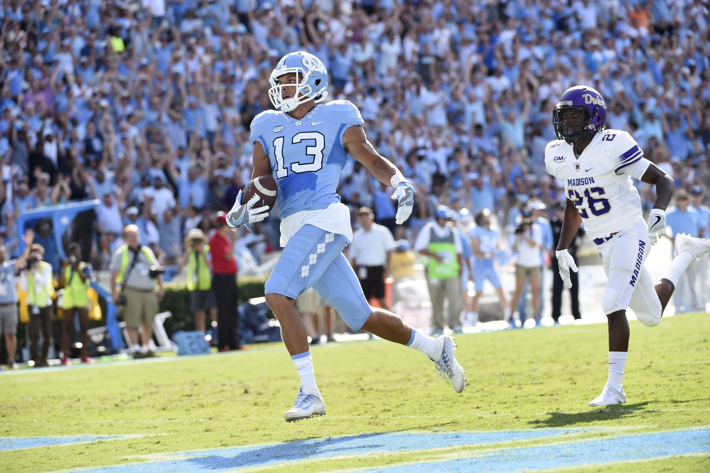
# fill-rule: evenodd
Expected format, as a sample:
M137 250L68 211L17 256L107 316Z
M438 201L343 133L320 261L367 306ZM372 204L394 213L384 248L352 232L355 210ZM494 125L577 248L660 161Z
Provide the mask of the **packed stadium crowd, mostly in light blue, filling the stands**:
M187 233L209 234L249 181L249 124L293 50L325 63L329 99L354 102L415 183L414 214L396 227L391 190L353 160L344 168L354 225L371 207L395 240L413 244L439 205L489 209L511 229L531 199L551 217L564 197L543 160L552 108L580 83L677 187L710 186L706 0L2 0L0 18L0 234L12 257L20 214L95 198L95 270L126 224L178 263ZM235 251L259 260L277 246L275 213Z

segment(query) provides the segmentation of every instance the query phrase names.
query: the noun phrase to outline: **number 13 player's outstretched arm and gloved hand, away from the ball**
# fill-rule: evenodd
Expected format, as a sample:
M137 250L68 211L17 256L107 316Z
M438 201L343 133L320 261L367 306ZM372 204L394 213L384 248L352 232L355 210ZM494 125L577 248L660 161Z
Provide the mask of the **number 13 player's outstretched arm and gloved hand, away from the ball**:
M387 158L383 158L365 136L362 126L350 126L343 134L345 151L367 168L377 180L395 187L392 195L398 202L395 221L403 224L414 208L415 188Z

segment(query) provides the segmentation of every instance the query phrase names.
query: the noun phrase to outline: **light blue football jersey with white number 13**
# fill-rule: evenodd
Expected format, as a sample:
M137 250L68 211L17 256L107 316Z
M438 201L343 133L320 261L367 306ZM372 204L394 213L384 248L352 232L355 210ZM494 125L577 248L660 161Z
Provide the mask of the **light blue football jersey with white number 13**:
M360 111L347 100L317 104L300 120L267 110L251 122L251 143L261 143L278 189L278 217L325 209L340 202L336 190L347 153L343 135L363 126Z

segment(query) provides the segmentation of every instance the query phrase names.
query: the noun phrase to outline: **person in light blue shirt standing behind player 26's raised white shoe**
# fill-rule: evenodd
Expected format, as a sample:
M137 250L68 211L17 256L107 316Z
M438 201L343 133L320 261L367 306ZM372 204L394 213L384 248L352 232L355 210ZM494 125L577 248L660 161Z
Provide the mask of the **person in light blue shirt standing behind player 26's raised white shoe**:
M701 237L703 230L701 214L690 205L690 198L685 189L679 189L674 195L675 207L666 213L666 225L670 227L674 243L678 234L684 233L691 237ZM671 246L673 251L675 245ZM672 256L672 255L671 255ZM700 310L699 290L696 282L700 278L700 265L691 264L678 279L673 292L673 305L677 312L692 312Z

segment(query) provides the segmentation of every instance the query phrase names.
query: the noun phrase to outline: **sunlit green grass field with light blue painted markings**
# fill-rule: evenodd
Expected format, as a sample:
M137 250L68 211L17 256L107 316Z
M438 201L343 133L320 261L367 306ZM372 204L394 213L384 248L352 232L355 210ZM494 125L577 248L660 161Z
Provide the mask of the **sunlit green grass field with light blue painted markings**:
M710 470L710 431L701 430L710 426L708 315L670 317L652 329L631 322L627 403L606 409L587 407L606 381L606 325L461 335L457 343L469 381L460 395L407 347L315 347L327 415L290 424L282 415L298 379L280 344L5 372L0 442L130 437L25 449L0 443L0 471ZM656 440L643 436L655 434L684 450L655 450ZM244 448L255 445L262 447ZM417 464L424 461L432 463Z

